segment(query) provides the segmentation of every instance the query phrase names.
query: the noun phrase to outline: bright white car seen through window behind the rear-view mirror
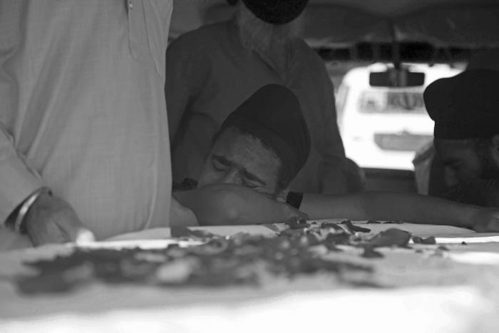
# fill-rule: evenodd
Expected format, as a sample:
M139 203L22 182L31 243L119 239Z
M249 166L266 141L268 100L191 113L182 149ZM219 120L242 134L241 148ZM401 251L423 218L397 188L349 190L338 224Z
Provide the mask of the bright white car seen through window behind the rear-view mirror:
M433 121L426 113L423 91L438 78L461 70L448 65L408 65L425 73L423 86L392 88L369 85L371 71L387 66L351 69L336 96L339 128L347 157L362 168L413 170L417 150L433 140Z

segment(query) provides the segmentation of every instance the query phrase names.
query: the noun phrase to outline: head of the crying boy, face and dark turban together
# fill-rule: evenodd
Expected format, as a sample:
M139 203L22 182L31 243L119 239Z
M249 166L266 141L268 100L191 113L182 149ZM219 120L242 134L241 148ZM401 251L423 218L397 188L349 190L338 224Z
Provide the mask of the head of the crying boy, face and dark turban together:
M245 184L283 197L309 153L309 130L297 97L284 86L269 84L222 123L199 182L201 186L215 182ZM277 174L266 172L269 169L277 170Z

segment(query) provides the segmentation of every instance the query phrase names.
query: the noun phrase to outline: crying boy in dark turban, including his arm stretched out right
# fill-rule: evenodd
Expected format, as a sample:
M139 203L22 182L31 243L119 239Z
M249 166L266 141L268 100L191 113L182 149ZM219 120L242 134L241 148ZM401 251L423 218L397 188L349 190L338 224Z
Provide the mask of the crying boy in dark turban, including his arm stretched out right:
M287 121L280 121L283 117ZM197 188L173 195L195 213L200 225L273 223L308 216L314 220L404 220L499 231L499 211L422 195L289 192L289 184L309 155L309 141L297 97L284 86L269 84L222 123Z

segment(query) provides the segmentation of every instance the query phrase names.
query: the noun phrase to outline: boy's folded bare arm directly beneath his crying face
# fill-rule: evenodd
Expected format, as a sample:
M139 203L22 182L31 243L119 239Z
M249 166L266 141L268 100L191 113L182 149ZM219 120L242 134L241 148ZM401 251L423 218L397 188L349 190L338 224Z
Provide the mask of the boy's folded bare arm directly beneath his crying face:
M200 225L251 225L307 218L285 203L239 185L207 185L173 195L194 212Z

